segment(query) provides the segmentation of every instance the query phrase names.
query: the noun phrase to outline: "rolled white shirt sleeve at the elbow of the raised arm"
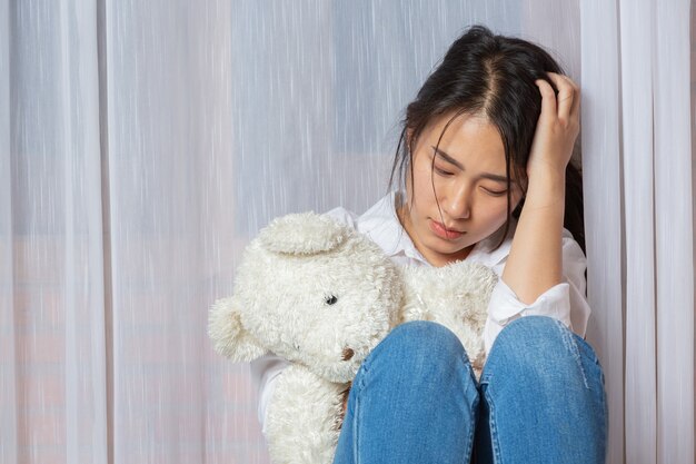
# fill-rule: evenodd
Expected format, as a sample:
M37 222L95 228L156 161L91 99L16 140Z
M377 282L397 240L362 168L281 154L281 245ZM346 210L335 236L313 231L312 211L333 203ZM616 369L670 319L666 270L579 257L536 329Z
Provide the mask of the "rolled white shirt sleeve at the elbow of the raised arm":
M503 275L505 260L494 266L498 276ZM569 329L585 337L590 308L585 297L585 269L587 259L580 246L567 230L563 237L563 282L527 305L519 300L515 292L503 279L494 287L488 304L488 317L484 328L486 356L503 328L510 322L530 315L549 316L563 322Z

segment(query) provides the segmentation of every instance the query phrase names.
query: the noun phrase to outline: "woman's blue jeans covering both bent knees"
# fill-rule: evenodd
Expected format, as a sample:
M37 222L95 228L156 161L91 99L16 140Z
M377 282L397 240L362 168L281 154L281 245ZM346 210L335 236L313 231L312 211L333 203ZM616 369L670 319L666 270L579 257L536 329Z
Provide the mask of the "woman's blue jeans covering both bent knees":
M478 383L449 329L411 322L362 362L334 463L604 463L607 425L599 361L563 323L508 324Z

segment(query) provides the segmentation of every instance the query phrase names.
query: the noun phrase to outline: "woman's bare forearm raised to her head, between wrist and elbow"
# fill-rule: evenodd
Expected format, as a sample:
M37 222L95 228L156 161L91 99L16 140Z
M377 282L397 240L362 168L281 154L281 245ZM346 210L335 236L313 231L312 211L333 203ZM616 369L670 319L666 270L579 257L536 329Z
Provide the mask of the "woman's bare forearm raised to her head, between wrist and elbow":
M561 283L564 208L563 172L536 172L530 177L501 277L525 304L534 303L539 295Z

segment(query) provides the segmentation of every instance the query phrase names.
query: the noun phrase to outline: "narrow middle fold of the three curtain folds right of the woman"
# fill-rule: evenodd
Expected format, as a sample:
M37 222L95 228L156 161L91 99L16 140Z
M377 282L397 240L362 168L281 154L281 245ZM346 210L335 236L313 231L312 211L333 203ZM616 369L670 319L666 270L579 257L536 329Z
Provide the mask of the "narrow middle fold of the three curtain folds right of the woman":
M619 4L626 263L626 462L657 456L657 318L650 1ZM642 59L632 59L642 57ZM646 440L649 437L648 440ZM643 457L642 457L643 456Z

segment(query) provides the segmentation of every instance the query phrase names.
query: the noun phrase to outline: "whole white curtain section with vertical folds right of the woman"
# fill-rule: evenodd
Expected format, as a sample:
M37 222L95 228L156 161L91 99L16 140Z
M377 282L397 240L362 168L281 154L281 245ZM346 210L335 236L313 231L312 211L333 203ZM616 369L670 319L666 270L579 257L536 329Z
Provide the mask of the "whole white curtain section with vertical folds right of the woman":
M606 372L609 462L694 462L690 7L580 8L588 337Z

